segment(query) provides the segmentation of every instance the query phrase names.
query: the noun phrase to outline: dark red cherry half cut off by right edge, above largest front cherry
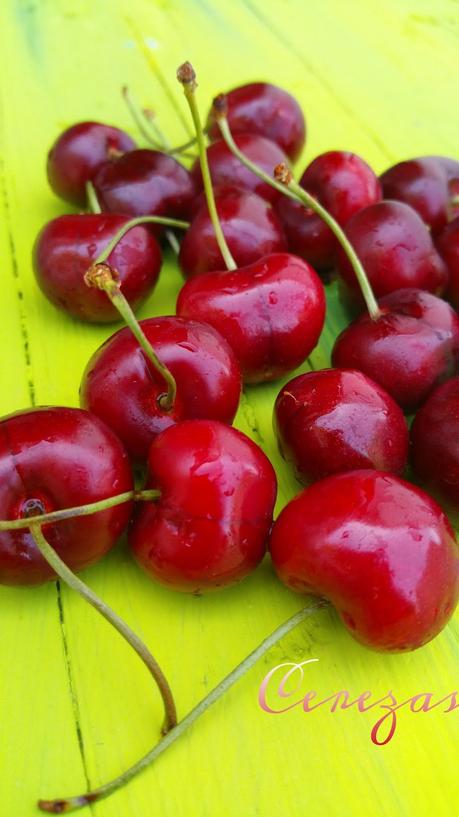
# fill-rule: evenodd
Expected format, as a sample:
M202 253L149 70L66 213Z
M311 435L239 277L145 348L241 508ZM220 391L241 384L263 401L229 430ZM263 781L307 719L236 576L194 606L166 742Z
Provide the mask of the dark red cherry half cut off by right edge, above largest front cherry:
M459 506L459 377L435 389L411 426L413 468Z

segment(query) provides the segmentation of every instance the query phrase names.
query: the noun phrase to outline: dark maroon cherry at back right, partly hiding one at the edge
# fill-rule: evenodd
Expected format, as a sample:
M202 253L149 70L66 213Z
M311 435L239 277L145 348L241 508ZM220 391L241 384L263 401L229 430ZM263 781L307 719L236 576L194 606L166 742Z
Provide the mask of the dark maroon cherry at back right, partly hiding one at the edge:
M381 184L386 199L409 204L433 233L438 233L447 223L448 178L435 158L399 162L382 174Z

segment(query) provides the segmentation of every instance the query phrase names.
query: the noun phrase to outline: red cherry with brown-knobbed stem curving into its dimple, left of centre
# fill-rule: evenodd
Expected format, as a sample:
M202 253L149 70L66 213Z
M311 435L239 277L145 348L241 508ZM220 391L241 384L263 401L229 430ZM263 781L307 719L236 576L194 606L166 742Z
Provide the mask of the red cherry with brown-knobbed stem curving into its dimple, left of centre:
M177 398L170 412L158 398L166 391L130 329L109 338L89 361L81 404L104 420L134 459L146 460L153 438L190 418L231 424L241 394L234 353L211 326L176 317L148 318L140 325L159 359L174 375Z

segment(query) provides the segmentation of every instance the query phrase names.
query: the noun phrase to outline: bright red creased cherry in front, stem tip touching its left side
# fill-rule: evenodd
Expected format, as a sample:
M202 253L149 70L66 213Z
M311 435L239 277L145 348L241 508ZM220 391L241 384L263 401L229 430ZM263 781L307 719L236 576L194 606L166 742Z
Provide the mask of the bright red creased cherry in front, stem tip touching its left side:
M129 532L149 576L200 593L240 581L262 560L276 476L263 451L223 423L187 420L154 440L148 486L160 499L139 509Z

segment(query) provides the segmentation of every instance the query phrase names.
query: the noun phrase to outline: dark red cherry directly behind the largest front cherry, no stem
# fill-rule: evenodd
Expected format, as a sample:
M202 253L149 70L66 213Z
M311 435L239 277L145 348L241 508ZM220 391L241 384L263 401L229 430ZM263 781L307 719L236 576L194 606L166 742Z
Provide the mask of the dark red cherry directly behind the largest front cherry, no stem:
M290 380L274 406L274 429L300 482L357 468L401 473L406 465L403 412L362 372L323 369Z

